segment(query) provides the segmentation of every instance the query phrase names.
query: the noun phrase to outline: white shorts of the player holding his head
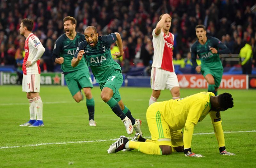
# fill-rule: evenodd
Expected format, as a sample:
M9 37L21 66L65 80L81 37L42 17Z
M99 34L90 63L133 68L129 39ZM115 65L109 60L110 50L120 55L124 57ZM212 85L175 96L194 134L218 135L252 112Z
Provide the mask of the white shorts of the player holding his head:
M150 85L153 90L171 90L173 87L180 87L175 72L169 72L161 68L152 67Z

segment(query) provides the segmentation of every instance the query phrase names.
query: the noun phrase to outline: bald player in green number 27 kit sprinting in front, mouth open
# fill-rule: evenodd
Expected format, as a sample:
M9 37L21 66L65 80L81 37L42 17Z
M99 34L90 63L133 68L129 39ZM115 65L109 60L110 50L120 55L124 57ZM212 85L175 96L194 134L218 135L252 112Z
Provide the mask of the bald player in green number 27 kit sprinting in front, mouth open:
M99 36L94 26L88 26L84 30L84 35L85 39L78 44L72 59L72 67L76 67L85 58L100 85L102 100L121 118L129 135L132 134L133 128L141 134L141 121L132 117L131 111L121 99L118 90L124 79L121 67L112 59L110 53L110 45L116 42L120 52L113 55L115 55L115 58L123 56L124 50L120 34L111 33L107 36Z

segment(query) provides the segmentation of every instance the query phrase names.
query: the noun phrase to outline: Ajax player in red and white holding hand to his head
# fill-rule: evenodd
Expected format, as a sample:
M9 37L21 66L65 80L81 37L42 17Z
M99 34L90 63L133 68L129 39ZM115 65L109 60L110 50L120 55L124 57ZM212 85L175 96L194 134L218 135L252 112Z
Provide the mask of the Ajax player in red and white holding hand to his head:
M169 32L171 21L172 17L169 14L161 15L152 33L154 57L150 85L153 91L149 99L149 105L157 101L161 90L165 88L171 91L172 99L180 98L180 85L172 63L174 35Z

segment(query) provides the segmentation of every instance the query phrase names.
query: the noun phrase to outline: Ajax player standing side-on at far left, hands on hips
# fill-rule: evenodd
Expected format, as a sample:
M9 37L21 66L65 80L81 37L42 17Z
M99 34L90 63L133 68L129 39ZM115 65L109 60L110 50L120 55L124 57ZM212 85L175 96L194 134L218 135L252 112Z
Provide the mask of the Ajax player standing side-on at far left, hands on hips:
M29 102L30 120L20 126L42 127L43 122L43 102L40 92L40 58L45 49L39 39L31 33L33 21L23 19L20 23L20 34L26 37L25 58L22 64L23 79L22 91L27 92Z

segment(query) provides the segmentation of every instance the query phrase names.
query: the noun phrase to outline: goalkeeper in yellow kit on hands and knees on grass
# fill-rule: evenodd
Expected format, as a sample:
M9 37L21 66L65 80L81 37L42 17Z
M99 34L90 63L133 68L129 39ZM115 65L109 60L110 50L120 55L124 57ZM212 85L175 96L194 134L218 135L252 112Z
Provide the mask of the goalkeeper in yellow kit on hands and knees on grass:
M172 151L177 151L189 157L203 157L192 152L191 140L194 126L209 114L220 154L235 155L226 151L220 119L220 111L232 107L233 98L229 93L215 96L212 92L201 92L181 99L155 102L147 110L151 140L142 138L140 134L135 134L131 141L121 136L110 145L108 153L137 149L146 154L170 155Z

